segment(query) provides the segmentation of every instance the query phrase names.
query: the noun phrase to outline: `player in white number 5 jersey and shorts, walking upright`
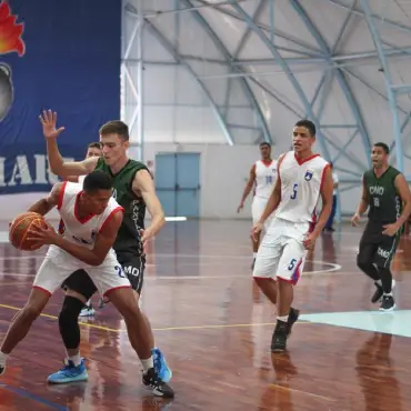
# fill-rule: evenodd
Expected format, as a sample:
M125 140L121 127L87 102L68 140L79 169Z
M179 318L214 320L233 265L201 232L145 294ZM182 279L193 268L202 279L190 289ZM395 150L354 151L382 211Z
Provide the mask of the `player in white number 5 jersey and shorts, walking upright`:
M299 311L291 307L293 285L302 272L305 250L314 247L331 211L333 182L329 163L312 152L315 126L300 120L293 129L293 151L280 156L278 179L252 235L261 232L267 218L274 217L257 253L253 278L262 292L277 304L277 325L271 351L284 351L287 338ZM322 210L313 225L315 206ZM278 281L274 282L273 278Z

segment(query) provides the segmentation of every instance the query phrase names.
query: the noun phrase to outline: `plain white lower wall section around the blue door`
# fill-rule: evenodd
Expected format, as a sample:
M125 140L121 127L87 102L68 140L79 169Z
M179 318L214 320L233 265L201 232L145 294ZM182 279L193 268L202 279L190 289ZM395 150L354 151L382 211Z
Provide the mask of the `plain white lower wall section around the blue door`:
M250 218L251 194L241 214L237 213L252 163L259 159L258 146L144 144L144 162L154 162L158 152L199 152L201 218ZM132 153L130 153L132 156Z

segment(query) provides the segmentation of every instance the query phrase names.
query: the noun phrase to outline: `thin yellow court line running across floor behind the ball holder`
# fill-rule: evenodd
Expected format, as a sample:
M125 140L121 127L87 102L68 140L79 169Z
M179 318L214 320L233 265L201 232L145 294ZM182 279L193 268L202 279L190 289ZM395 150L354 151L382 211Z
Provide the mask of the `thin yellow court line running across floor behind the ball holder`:
M8 310L13 310L13 311L20 311L21 308L13 307L13 305L8 305L8 304L0 304L0 308L4 308ZM40 317L44 317L51 320L58 320L59 318L56 315L51 314L44 314L41 313ZM312 324L310 321L297 321L299 324ZM88 323L88 322L79 322L80 325L89 327L89 328L94 328L98 330L103 330L103 331L112 331L120 333L126 330L119 330L119 329L113 329L110 327L104 327L104 325L98 325L93 323ZM244 328L244 327L267 327L267 325L275 325L275 322L258 322L258 323L249 323L249 324L206 324L206 325L181 325L181 327L164 327L164 328L153 328L153 331L183 331L183 330L206 330L206 329L224 329L224 328Z

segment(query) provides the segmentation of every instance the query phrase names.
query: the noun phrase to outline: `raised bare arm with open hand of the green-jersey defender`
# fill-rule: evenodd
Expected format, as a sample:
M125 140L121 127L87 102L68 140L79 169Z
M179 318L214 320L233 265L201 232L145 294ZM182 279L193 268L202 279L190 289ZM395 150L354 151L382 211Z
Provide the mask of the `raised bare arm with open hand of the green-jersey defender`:
M51 171L57 176L83 176L93 171L98 157L91 157L83 161L64 161L60 154L59 147L57 144L57 138L64 130L63 127L56 129L57 113L51 110L43 111L43 114L39 117L40 122L43 127L43 134L47 141L47 157L49 160Z

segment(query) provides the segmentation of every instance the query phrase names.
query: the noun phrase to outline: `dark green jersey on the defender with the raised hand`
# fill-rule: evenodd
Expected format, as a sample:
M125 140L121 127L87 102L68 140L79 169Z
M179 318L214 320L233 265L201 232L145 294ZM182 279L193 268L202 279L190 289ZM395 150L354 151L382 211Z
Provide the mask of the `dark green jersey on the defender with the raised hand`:
M142 162L130 159L117 174L113 174L104 159L100 158L96 170L103 170L111 176L114 181L113 197L124 209L123 221L113 249L117 252L129 251L141 254L140 230L144 229L146 203L141 197L133 193L131 186L136 173L148 168Z

